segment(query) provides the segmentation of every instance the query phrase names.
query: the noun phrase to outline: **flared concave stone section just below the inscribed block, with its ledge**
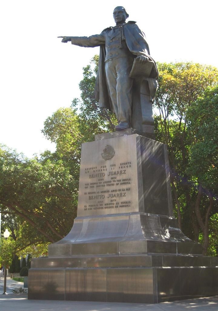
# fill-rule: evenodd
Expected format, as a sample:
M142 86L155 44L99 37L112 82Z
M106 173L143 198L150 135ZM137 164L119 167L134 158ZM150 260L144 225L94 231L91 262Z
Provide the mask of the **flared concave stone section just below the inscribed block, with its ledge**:
M174 218L140 212L77 217L70 233L49 245L49 256L128 253L201 254L202 246Z

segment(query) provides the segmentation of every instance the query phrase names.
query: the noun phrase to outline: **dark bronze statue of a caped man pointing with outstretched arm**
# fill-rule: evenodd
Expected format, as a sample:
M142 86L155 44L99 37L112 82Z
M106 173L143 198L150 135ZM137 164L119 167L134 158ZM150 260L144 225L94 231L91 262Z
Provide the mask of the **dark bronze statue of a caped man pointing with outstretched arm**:
M64 36L61 37L62 42L71 41L82 47L100 46L95 98L99 100L100 107L116 114L116 131L132 127L145 132L142 124L153 122L151 107L158 79L156 63L149 55L145 35L136 22L126 23L129 15L125 8L115 7L113 16L116 26L104 29L100 35ZM136 66L133 70L134 60ZM143 73L146 64L151 67L150 76ZM146 97L142 98L143 95ZM150 110L142 105L150 105Z

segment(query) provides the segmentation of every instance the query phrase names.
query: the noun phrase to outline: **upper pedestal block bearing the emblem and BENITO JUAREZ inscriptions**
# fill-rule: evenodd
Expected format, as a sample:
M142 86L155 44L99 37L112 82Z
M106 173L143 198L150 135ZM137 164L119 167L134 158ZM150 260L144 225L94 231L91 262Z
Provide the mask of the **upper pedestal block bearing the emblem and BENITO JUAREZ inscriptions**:
M82 144L77 216L172 216L166 146L130 135L131 129L122 132L127 135Z

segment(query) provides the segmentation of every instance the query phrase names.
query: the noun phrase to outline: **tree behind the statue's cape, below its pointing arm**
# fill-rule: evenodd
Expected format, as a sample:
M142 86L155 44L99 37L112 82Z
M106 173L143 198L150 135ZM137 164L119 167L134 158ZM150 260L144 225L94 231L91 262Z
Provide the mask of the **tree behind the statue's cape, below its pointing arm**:
M80 163L81 144L94 140L95 134L113 132L117 123L115 115L100 108L94 98L98 56L83 68L83 79L79 84L81 100L74 98L70 108L60 108L44 122L42 132L56 143L59 156ZM68 165L69 165L68 161ZM78 167L79 169L79 167Z

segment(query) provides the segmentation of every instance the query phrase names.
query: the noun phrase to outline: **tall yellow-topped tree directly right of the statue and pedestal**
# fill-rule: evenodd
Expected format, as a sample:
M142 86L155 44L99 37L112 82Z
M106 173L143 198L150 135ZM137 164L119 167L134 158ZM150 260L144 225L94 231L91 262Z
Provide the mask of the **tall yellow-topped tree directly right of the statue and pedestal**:
M190 238L198 241L199 222L196 214L197 191L195 176L190 174L190 146L187 113L208 86L218 81L217 68L193 63L159 63L159 89L155 106L156 137L168 146L170 178L179 227ZM206 249L204 247L204 253Z

